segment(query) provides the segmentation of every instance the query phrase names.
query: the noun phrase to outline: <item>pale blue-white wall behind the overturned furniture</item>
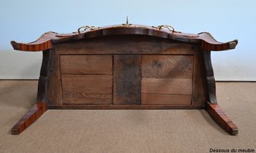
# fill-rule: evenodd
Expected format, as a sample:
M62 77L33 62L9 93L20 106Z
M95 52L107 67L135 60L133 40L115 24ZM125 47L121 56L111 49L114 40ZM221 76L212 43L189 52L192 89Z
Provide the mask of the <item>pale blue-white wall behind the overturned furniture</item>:
M220 42L238 39L236 50L212 52L217 80L256 81L256 1L108 0L0 1L0 79L37 79L42 52L12 50L11 40L32 42L45 31L76 31L80 26L129 23L177 31L211 32Z

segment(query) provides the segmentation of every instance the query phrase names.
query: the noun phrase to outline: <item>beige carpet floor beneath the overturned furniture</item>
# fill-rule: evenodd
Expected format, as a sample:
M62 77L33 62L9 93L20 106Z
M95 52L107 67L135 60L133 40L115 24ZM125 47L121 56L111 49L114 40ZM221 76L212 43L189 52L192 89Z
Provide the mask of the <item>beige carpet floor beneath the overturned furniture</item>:
M217 83L219 105L239 127L238 136L225 133L204 110L48 110L12 136L36 94L37 81L0 81L0 152L256 152L256 83Z

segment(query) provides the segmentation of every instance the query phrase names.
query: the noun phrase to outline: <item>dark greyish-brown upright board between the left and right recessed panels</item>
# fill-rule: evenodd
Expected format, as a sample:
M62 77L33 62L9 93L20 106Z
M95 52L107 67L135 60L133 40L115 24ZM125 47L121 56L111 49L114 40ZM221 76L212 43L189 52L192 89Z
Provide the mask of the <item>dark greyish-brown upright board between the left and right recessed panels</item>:
M140 104L141 55L114 55L114 104Z

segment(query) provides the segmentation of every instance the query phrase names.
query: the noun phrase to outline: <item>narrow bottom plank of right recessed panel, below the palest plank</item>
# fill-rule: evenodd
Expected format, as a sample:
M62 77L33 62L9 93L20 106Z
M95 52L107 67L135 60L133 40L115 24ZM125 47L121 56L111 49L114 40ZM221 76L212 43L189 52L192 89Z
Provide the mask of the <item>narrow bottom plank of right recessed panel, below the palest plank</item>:
M192 95L146 94L141 95L143 105L190 105Z

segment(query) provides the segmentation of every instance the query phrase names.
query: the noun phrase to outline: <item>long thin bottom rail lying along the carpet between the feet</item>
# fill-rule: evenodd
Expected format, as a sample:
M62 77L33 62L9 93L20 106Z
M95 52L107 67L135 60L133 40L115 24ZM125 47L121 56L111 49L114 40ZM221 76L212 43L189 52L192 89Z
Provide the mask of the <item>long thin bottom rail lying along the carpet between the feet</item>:
M51 105L48 109L204 109L202 105Z

